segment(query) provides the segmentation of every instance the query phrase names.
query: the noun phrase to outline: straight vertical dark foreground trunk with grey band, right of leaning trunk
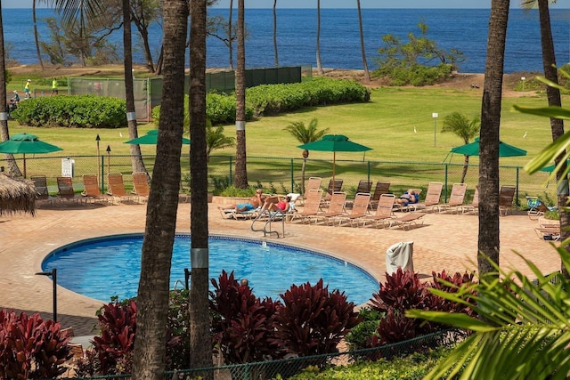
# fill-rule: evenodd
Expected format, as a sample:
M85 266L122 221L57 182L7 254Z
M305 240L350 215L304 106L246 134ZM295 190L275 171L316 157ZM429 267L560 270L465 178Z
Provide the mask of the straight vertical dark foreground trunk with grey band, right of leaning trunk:
M191 130L191 368L212 365L208 313L208 155L206 143L206 11L207 0L191 1L190 130ZM213 379L213 373L193 374Z

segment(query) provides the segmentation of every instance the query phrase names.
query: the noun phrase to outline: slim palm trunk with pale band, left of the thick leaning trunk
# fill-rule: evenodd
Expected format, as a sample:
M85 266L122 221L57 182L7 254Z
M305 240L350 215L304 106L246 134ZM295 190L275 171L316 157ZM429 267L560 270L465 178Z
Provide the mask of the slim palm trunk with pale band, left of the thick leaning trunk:
M126 122L128 124L128 136L136 139L138 135L136 125L136 114L134 112L134 90L133 90L133 42L131 35L131 7L129 0L122 0L123 5L123 52L125 62L125 97L126 97ZM131 144L131 166L133 172L146 172L144 161L142 161L141 146Z

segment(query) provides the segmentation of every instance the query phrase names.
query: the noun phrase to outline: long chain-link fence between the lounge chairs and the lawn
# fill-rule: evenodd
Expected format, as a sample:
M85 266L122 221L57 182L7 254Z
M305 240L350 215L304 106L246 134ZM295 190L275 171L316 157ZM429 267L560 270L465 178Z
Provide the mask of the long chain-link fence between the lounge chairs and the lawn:
M20 168L23 166L22 158L14 157ZM142 157L144 165L152 174L154 156ZM100 185L106 188L106 175L121 173L124 175L126 188L132 187L131 156L102 154L102 156L77 157L42 157L26 158L28 177L31 175L45 175L48 179L50 193L57 192L56 177L62 175L64 160L73 162L72 173L74 188L77 192L83 190L83 174L100 174ZM68 161L69 162L69 161ZM180 161L182 169L181 191L190 192L190 156L183 155ZM0 159L0 166L6 166L5 158ZM235 158L232 156L211 156L208 163L208 188L215 195L232 186ZM279 157L248 157L248 182L251 186L262 187L273 193L302 192L303 158ZM451 163L422 163L398 161L362 161L337 160L336 179L343 180L342 190L348 196L354 196L358 182L368 180L374 184L378 181L390 182L390 192L401 194L410 188L428 189L429 182L443 182L443 200L446 201L451 193L452 185L461 182L464 166ZM501 166L500 185L515 185L517 206L526 206L525 196L537 196L546 200L546 203L556 199L556 183L545 185L548 173L527 174L520 166ZM68 175L68 174L66 174ZM305 168L305 181L312 176L322 177L322 187L326 189L332 177L332 162L330 160L308 159ZM468 185L466 202L470 201L478 182L478 166L469 165L464 182Z

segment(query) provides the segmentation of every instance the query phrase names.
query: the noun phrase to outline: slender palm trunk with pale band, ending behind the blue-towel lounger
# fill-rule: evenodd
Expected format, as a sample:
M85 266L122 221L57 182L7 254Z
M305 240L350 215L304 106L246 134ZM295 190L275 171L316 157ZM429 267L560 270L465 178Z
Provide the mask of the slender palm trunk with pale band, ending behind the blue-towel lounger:
M236 151L235 181L238 189L248 187L248 169L246 165L246 48L245 48L245 5L238 0L238 67L235 71L236 97Z

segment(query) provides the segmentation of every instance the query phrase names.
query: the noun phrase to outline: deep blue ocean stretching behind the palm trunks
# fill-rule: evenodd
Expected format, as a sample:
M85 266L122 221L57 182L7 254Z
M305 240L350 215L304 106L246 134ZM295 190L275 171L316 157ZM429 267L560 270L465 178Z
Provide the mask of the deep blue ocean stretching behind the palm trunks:
M31 9L4 9L4 41L10 56L21 64L37 63ZM211 9L209 15L227 18L228 10ZM403 42L407 35L420 35L417 24L428 25L429 39L443 49L456 48L464 53L460 72L485 72L489 10L485 9L362 9L366 59L369 69L378 67L382 36L390 33ZM234 10L233 20L237 20ZM39 36L49 36L45 17L53 10L38 9ZM551 10L552 33L558 66L570 61L570 10ZM280 66L316 67L316 9L278 9L277 44ZM273 10L246 9L246 66L248 69L273 67ZM135 28L133 28L135 31ZM159 54L161 30L151 28L154 59ZM122 31L111 35L110 42L122 47ZM137 38L134 36L134 44ZM323 68L362 69L358 14L354 9L321 10L321 62ZM229 67L228 49L214 36L208 37L208 68ZM237 48L234 47L234 54ZM47 57L45 57L47 61ZM142 52L134 46L134 62L142 62ZM235 57L234 57L235 65ZM542 71L541 35L538 11L512 9L509 14L505 72Z

